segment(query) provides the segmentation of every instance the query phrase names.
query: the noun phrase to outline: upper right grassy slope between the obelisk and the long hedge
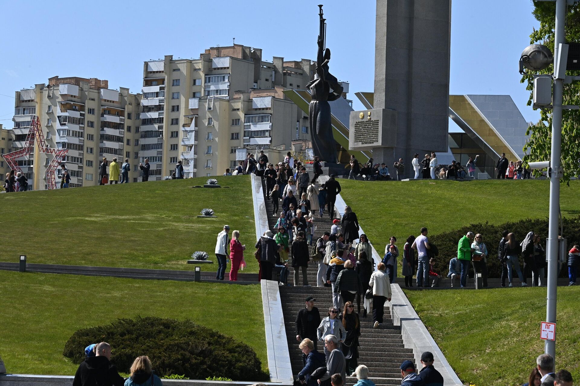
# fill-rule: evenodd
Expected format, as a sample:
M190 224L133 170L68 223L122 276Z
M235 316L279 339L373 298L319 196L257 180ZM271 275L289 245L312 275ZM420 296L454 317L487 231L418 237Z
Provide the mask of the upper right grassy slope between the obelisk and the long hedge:
M339 182L340 194L379 253L391 235L397 237L401 249L409 234L417 236L423 226L429 228L429 234L437 234L471 223L548 217L548 181ZM580 181L561 187L563 216L580 214L579 188Z

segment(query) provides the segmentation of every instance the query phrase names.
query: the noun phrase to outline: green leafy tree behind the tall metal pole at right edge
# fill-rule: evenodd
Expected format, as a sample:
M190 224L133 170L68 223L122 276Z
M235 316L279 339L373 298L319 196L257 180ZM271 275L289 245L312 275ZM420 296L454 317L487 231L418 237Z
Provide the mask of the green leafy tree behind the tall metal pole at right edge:
M538 30L534 28L530 35L530 44L541 43L554 52L554 24L556 3L534 1L534 16L540 22ZM566 42L580 41L580 4L567 6L565 24ZM552 74L553 64L537 73ZM580 71L568 71L567 75L580 75ZM526 90L534 89L533 78L524 75L521 83L527 83ZM580 82L564 84L564 105L580 105ZM532 93L528 106L532 105ZM524 162L546 161L552 153L552 111L543 109L540 119L526 131L530 139L524 146ZM564 175L561 181L570 182L571 177L580 175L580 111L564 109L562 119L562 168Z

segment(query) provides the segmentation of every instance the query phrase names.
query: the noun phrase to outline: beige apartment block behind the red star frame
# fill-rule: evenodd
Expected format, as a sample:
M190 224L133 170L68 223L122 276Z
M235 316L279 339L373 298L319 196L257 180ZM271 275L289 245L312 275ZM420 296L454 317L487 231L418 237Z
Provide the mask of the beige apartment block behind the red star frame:
M129 181L137 181L139 157L140 94L123 87L108 88L97 78L48 79L34 89L16 91L12 149L23 148L31 116L37 115L46 140L53 148L68 149L63 164L71 175L71 187L99 185L99 164L129 158ZM46 166L52 155L34 152L18 160L32 189L46 189ZM59 184L57 184L57 187Z

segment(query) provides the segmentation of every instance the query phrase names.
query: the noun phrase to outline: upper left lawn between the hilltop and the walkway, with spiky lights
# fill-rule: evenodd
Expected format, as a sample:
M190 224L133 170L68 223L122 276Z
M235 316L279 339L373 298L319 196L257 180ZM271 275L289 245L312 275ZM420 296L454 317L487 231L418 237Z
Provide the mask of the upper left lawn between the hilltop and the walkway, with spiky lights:
M193 270L187 259L195 251L216 260L225 224L240 230L253 251L249 176L218 177L221 189L191 188L206 179L0 194L0 227L12 245L0 249L0 261L27 255L29 263ZM218 218L197 218L203 208ZM258 272L249 256L245 271ZM215 271L216 265L201 267Z

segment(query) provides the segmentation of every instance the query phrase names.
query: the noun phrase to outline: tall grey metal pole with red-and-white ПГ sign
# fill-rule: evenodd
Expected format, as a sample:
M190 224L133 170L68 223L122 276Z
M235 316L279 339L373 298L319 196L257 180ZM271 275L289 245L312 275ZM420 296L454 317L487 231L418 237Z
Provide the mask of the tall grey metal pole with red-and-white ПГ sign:
M558 57L560 43L565 43L564 24L566 0L556 0L556 28L554 36L554 59ZM556 60L554 60L556 64ZM564 64L565 65L565 64ZM555 73L555 71L554 71ZM548 225L548 296L546 298L546 322L556 323L556 294L558 281L558 220L560 211L562 104L564 79L554 76L552 99L552 155L550 157L550 212ZM546 354L556 359L556 341L546 340Z

